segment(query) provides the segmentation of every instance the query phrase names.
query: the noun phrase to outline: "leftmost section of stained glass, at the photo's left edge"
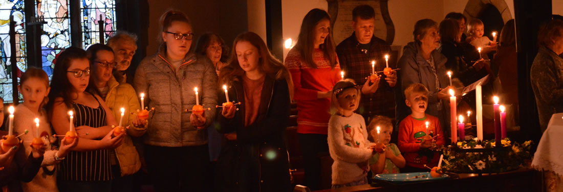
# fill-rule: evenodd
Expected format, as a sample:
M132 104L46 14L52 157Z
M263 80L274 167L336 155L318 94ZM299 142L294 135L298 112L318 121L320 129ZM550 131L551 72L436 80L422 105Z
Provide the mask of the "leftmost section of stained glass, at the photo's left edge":
M12 102L12 64L10 62L10 15L16 21L16 66L21 71L26 69L25 49L25 13L24 1L0 0L0 96L4 102ZM17 78L17 77L16 77Z

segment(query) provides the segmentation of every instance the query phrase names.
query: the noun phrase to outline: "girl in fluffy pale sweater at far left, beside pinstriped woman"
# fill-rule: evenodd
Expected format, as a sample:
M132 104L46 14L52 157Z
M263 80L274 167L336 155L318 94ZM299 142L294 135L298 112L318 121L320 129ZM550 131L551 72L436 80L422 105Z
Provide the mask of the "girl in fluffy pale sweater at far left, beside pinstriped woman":
M31 182L22 183L24 191L42 191L42 192L56 192L59 191L56 185L56 168L55 165L60 163L61 159L66 157L66 154L76 144L75 139L72 144L65 145L61 142L61 148L55 149L51 145L52 132L47 121L47 113L43 110L43 105L47 103L47 95L49 93L49 78L47 73L42 69L28 68L28 70L20 78L21 95L24 96L24 103L17 105L14 113L14 131L23 133L29 130L27 135L21 136L24 141L25 154L32 151L32 140L36 137L35 123L33 120L39 118L39 134L43 140L44 146L41 150L46 150L43 155L42 168Z

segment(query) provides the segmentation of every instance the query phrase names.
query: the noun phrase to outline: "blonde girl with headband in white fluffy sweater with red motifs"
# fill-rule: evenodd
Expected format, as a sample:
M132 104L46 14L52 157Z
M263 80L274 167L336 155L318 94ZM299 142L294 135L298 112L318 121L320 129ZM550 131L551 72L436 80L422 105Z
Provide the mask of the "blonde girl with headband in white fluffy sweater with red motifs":
M360 101L359 86L351 79L334 85L328 123L328 148L332 164L332 188L368 184L368 160L375 153L364 118L354 113Z

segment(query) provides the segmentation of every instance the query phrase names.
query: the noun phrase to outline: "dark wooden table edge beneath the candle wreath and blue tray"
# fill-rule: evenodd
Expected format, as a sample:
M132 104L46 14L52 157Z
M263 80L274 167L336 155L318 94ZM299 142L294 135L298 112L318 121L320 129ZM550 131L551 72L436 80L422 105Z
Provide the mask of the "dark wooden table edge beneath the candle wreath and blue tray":
M345 187L342 189L321 190L336 191L541 191L541 173L531 168L521 168L516 171L499 174L454 174L447 180L425 181L412 184L394 185L383 181L376 181L371 185Z

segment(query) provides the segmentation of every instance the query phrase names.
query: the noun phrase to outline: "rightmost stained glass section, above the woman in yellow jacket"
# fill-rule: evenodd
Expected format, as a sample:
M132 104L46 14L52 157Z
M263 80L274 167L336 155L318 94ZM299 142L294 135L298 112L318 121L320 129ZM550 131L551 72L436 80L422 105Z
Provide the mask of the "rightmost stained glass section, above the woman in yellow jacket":
M105 21L105 39L113 36L117 25L115 25L115 1L114 0L83 0L81 1L82 16L82 47L87 49L92 44L100 42L100 27L98 21Z

